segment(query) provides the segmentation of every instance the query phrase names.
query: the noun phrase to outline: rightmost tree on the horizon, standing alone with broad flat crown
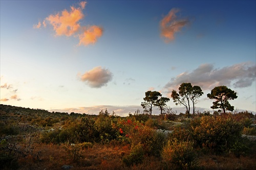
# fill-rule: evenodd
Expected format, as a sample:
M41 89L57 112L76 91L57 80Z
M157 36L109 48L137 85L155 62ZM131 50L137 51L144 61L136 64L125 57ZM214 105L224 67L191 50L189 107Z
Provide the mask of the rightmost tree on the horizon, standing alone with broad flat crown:
M207 94L209 99L215 99L215 102L212 102L212 109L222 109L223 113L226 113L226 110L233 111L234 107L231 106L228 100L237 99L237 93L233 90L227 88L226 86L218 86L211 90L209 94Z

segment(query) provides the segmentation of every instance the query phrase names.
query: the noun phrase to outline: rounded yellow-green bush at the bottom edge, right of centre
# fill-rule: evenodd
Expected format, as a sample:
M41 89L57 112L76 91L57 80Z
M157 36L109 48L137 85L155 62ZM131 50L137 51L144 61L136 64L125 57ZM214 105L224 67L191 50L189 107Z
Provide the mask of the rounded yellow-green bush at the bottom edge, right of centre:
M194 169L197 167L197 153L191 141L168 140L161 153L167 166L175 164L179 169Z

